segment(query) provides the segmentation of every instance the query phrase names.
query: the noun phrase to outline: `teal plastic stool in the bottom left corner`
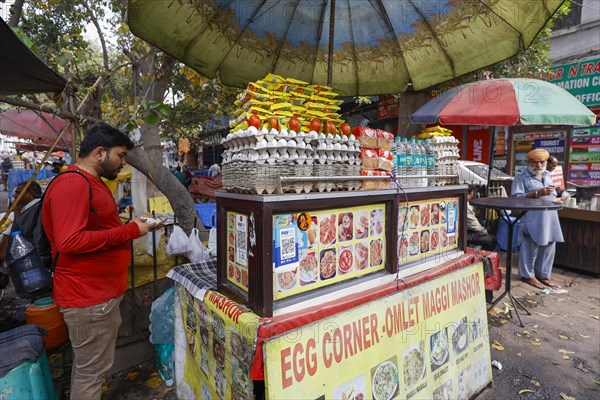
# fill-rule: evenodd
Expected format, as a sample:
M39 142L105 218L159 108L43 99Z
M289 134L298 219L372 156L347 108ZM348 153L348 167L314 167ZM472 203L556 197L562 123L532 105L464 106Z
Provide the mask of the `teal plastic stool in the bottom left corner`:
M56 400L46 352L36 362L24 361L0 378L0 398Z

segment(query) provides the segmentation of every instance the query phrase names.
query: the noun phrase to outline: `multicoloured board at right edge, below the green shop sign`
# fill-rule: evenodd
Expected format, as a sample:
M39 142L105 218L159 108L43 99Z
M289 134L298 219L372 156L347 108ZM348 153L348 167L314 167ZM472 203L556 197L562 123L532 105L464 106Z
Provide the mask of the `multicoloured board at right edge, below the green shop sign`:
M573 129L568 181L580 186L600 185L600 127Z

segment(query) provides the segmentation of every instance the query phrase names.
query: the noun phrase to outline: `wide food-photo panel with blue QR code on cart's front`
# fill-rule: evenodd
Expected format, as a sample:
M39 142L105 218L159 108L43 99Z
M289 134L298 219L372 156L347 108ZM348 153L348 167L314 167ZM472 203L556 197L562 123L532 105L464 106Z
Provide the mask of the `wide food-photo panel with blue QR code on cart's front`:
M385 268L385 204L273 216L273 299Z

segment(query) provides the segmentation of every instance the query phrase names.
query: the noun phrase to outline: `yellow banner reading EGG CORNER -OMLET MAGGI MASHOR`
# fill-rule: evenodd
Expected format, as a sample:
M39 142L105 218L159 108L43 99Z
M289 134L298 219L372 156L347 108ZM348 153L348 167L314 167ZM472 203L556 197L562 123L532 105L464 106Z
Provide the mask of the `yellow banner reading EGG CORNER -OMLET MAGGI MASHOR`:
M269 399L468 399L492 380L481 263L265 341Z

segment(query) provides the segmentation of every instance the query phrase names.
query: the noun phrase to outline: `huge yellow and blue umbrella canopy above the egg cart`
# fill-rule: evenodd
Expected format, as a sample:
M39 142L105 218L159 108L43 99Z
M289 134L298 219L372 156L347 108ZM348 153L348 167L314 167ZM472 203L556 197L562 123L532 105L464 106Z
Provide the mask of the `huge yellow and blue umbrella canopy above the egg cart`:
M354 96L424 89L511 57L562 3L130 0L128 15L135 35L226 85L272 72Z

